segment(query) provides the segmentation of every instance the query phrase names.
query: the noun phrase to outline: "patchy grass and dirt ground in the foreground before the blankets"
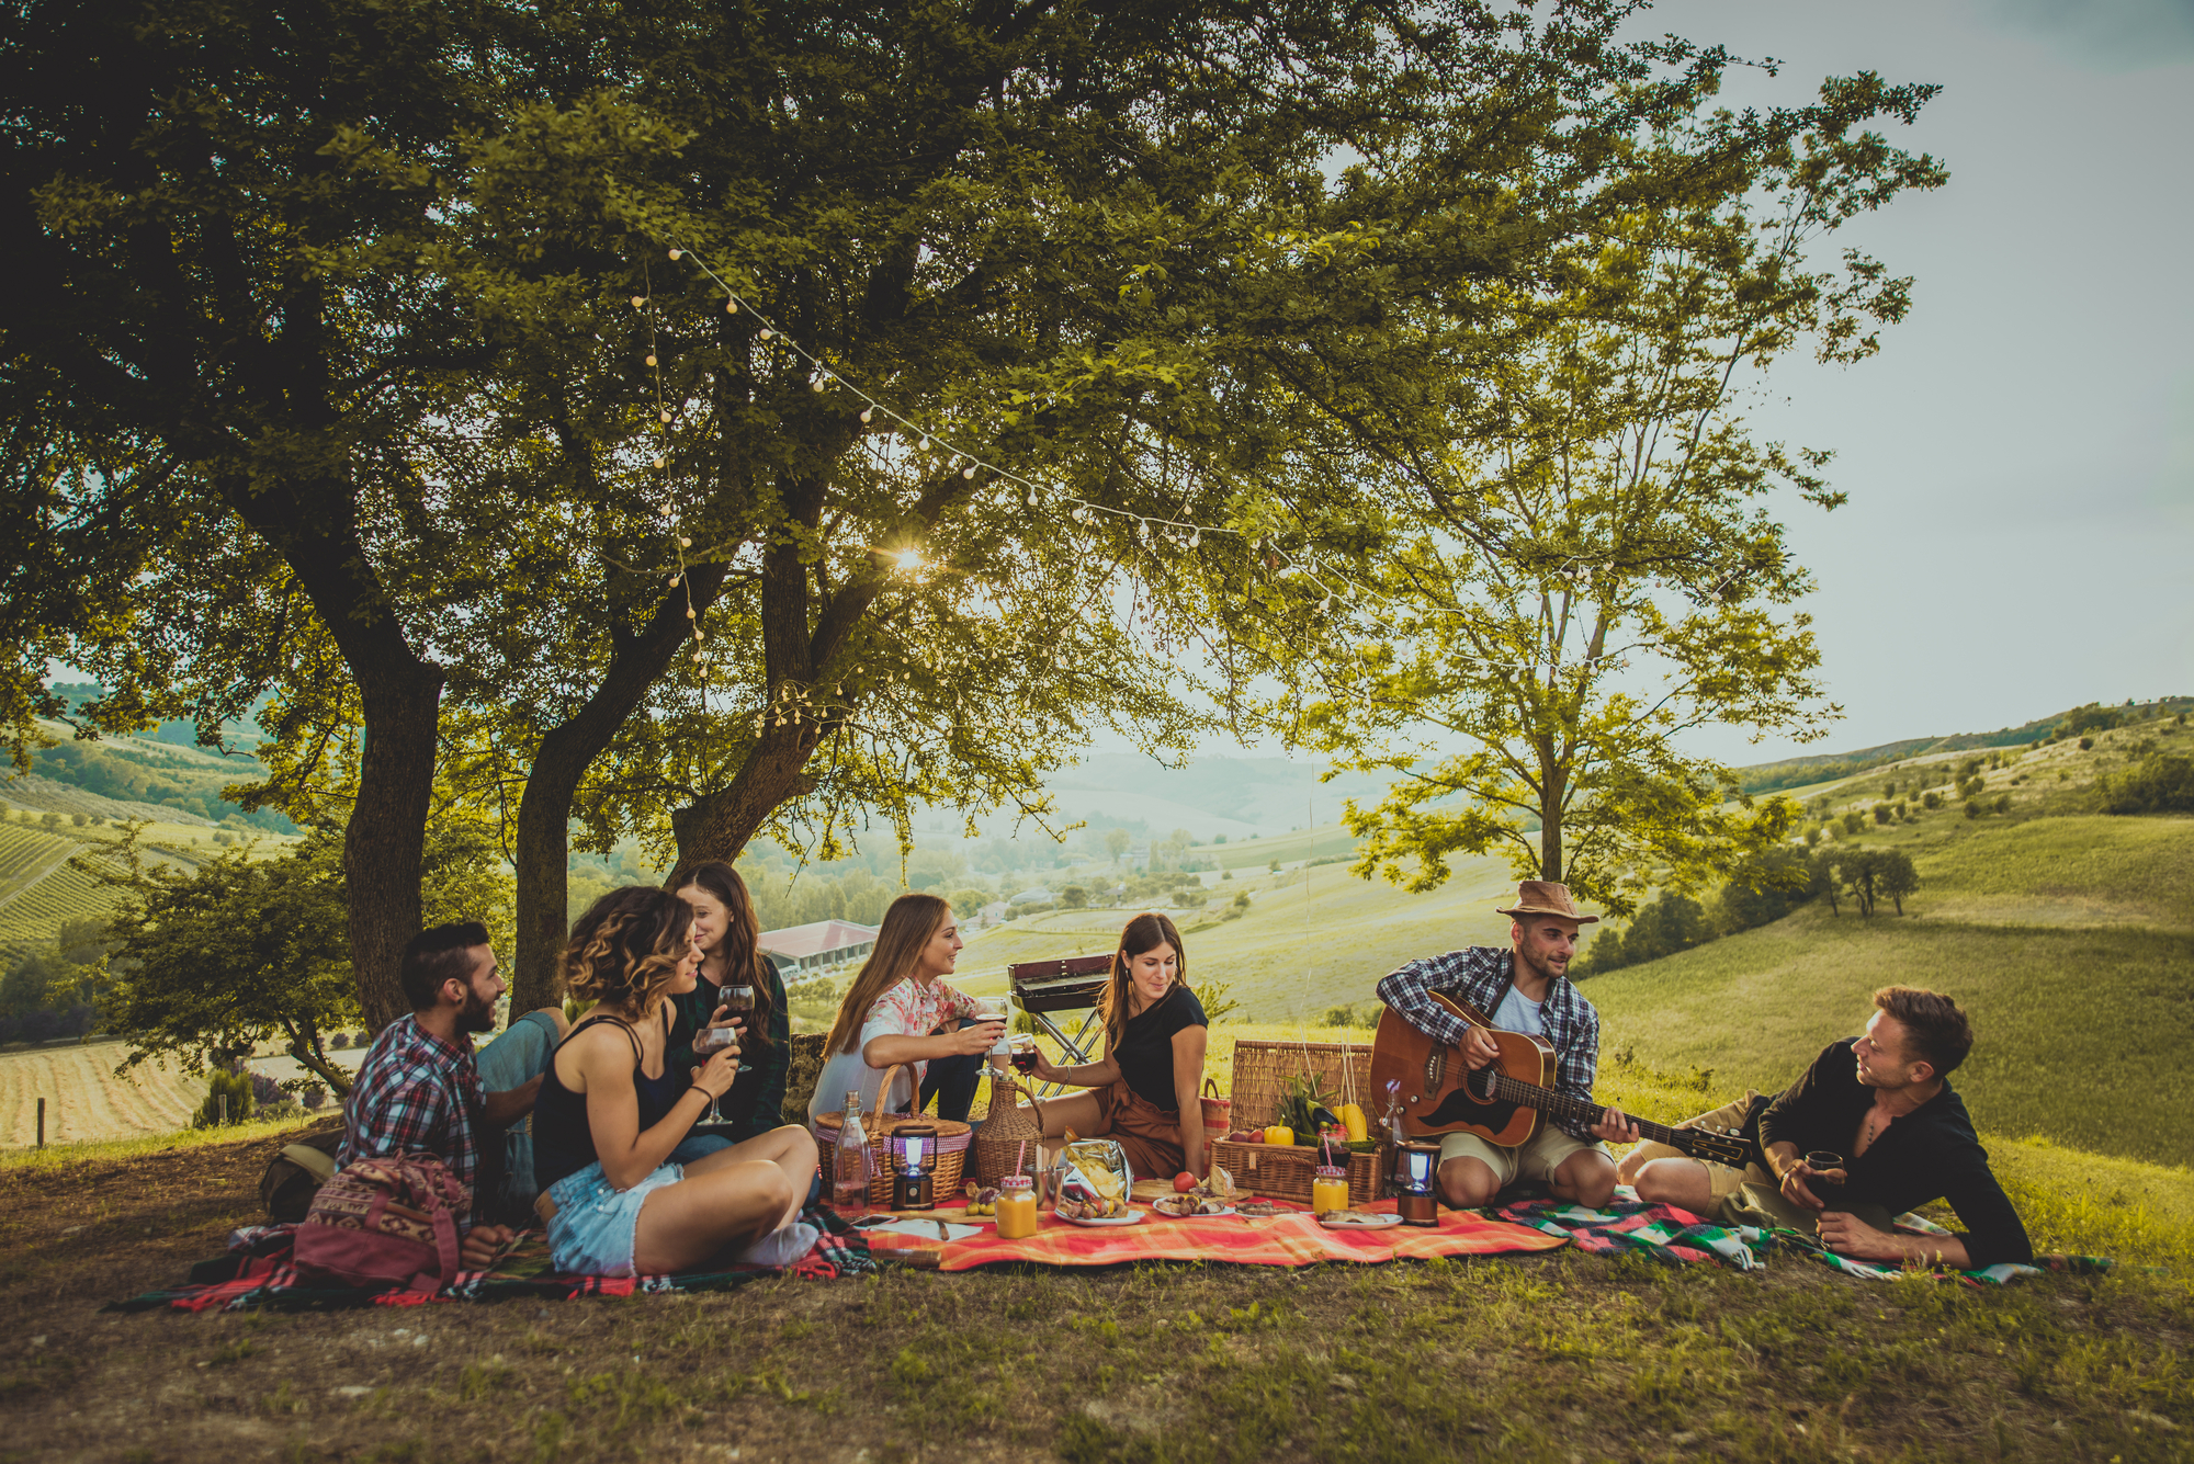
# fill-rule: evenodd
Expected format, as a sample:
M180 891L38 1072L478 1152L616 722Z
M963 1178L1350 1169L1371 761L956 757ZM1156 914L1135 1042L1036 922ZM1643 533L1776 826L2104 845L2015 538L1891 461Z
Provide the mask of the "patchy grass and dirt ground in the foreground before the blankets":
M2194 1460L2194 1308L2144 1276L1556 1251L99 1311L259 1219L270 1148L0 1170L0 1460Z

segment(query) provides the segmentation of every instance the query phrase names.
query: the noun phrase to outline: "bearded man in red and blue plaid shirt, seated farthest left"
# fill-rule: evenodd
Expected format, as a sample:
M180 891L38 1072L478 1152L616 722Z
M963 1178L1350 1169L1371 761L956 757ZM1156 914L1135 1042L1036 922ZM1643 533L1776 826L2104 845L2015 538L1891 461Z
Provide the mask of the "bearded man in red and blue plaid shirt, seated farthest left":
M511 1238L505 1225L487 1221L531 1201L531 1140L511 1135L511 1144L524 1146L511 1155L505 1131L533 1111L542 1072L564 1037L564 1013L527 1013L474 1059L472 1034L496 1030L496 1002L505 993L478 920L412 936L397 982L412 1015L382 1028L366 1050L344 1105L336 1164L419 1153L441 1159L472 1192L465 1265L485 1267ZM483 1089L483 1076L502 1087Z

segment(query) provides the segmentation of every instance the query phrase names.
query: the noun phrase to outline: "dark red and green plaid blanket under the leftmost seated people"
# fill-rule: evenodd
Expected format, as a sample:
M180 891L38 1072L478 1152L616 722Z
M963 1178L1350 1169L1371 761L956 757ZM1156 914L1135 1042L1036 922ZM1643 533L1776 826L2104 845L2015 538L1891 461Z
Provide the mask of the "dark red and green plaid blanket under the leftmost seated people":
M724 1271L678 1276L564 1276L548 1265L548 1238L538 1229L518 1236L487 1271L459 1271L439 1291L358 1291L298 1282L290 1260L296 1225L250 1225L228 1238L228 1254L191 1267L191 1280L169 1291L147 1291L108 1311L309 1311L340 1306L426 1306L428 1302L570 1302L588 1295L643 1295L658 1291L731 1291L764 1276L834 1280L878 1269L867 1238L836 1212L814 1205L801 1214L821 1229L814 1247L790 1267L735 1265Z

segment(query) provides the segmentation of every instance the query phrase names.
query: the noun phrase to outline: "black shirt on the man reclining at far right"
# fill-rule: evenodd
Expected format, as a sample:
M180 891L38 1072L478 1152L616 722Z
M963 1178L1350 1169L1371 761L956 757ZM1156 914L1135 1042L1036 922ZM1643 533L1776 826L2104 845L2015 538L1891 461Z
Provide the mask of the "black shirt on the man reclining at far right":
M1874 1089L1858 1080L1852 1056L1856 1037L1828 1043L1797 1083L1760 1116L1760 1146L1797 1144L1850 1155L1858 1124L1874 1107ZM1942 1091L1891 1122L1867 1153L1845 1164L1845 1199L1876 1203L1902 1214L1946 1199L1966 1225L1966 1256L1975 1267L2001 1260L2034 1260L2018 1210L1988 1168L1988 1151L1972 1133L1966 1100L1944 1083Z

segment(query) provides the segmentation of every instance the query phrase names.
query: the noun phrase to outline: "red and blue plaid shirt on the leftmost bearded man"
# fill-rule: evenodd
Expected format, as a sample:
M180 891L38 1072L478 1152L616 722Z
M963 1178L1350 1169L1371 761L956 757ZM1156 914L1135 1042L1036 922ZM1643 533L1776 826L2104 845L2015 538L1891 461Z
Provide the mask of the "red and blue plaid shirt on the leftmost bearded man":
M336 1164L434 1155L472 1192L465 1225L478 1225L485 1199L491 1199L480 1194L478 1183L476 1133L485 1118L472 1048L445 1043L417 1017L399 1017L382 1028L358 1065Z

